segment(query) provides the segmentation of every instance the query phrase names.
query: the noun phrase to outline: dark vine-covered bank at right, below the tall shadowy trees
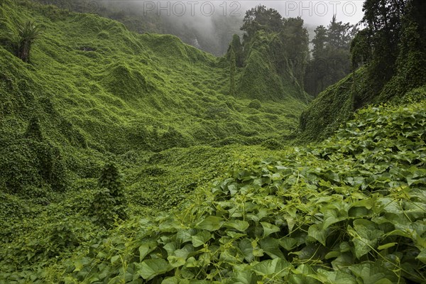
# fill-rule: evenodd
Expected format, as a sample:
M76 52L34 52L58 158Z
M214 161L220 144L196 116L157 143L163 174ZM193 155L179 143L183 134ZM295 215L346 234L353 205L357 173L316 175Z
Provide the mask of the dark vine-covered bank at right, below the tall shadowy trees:
M354 116L354 111L370 104L407 104L426 99L426 93L422 92L425 86L418 89L404 87L398 82L398 78L387 84L379 94L375 94L367 72L366 67L361 67L325 89L312 101L300 116L300 140L321 141L332 136L334 131ZM419 85L418 82L413 87ZM400 89L410 92L395 94L401 92Z

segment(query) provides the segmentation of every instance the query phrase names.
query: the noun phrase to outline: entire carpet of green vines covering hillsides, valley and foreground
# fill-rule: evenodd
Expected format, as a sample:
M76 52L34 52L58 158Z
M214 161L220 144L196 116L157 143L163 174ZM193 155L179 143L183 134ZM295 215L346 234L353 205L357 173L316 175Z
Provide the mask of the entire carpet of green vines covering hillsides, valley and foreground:
M410 5L376 97L391 100L354 115L377 83L376 55L356 51L374 48L368 30L352 45L364 65L302 113L300 18L259 6L215 58L2 1L0 283L425 283L425 26Z

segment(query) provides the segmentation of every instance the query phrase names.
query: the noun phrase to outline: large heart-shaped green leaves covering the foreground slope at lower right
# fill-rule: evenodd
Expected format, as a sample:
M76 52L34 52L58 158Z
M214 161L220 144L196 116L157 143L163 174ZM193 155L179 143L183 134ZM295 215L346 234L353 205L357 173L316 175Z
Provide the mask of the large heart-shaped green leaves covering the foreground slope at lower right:
M425 283L425 106L370 107L317 145L243 155L178 210L89 241L58 278Z

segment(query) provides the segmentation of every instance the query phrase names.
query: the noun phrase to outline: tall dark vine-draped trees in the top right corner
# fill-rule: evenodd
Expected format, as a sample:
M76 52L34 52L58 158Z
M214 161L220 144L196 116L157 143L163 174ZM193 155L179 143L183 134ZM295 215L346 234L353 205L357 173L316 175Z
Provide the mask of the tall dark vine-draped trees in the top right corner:
M371 82L359 106L425 84L425 1L366 0L364 13L366 28L351 43L352 67L366 65Z

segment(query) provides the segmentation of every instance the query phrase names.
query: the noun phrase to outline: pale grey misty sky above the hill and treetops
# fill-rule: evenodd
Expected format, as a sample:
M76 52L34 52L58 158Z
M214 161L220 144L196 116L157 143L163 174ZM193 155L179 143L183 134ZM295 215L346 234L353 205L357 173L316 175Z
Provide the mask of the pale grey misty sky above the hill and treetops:
M77 0L78 1L78 0ZM328 26L333 15L337 21L356 24L363 16L364 0L315 0L315 1L145 1L145 0L99 0L103 4L124 9L131 7L133 13L150 22L152 16L161 18L160 25L142 32L160 32L178 35L185 43L215 55L226 52L232 35L242 35L240 27L246 11L265 5L276 9L284 18L300 16L312 39L317 26ZM149 26L149 25L148 25ZM139 31L139 29L138 29Z

